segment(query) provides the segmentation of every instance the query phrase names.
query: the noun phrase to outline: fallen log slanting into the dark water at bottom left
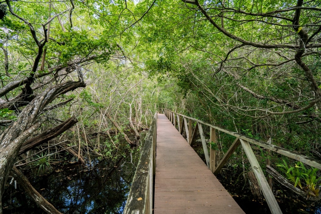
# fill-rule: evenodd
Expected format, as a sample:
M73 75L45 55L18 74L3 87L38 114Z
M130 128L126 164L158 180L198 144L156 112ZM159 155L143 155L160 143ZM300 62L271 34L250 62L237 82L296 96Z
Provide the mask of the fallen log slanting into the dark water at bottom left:
M29 180L19 171L17 167L12 168L13 177L17 180L18 184L24 189L24 191L32 198L36 204L41 207L46 213L49 214L62 214L51 203L49 203L40 193L33 188Z

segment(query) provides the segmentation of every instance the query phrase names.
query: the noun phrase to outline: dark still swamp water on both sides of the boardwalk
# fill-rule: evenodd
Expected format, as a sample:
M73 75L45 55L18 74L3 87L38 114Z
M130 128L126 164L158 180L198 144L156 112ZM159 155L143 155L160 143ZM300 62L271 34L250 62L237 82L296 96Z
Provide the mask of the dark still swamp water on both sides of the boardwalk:
M81 166L78 163L61 164L51 167L41 176L38 175L38 170L34 170L32 174L28 174L28 170L23 174L27 175L33 187L62 213L122 213L139 154L135 151L132 158L127 155L120 162L91 158L91 166ZM247 214L270 213L267 203L264 200L258 201L252 195L248 182L239 179L242 176L237 176L239 173L228 174L224 176L223 173L218 179ZM320 202L313 203L298 198L291 191L276 185L274 194L284 214L321 214ZM24 193L19 184L17 189L13 184L7 184L2 200L4 214L45 213Z

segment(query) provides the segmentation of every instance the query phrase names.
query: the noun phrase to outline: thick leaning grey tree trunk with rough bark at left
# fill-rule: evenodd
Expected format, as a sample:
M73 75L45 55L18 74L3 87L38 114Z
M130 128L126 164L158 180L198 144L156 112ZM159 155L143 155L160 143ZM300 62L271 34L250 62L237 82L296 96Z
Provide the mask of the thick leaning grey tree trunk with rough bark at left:
M79 81L68 81L54 85L34 98L14 121L0 135L0 214L2 214L2 194L5 183L13 167L23 142L42 124L39 118L41 111L55 98L68 91L85 87L82 77Z

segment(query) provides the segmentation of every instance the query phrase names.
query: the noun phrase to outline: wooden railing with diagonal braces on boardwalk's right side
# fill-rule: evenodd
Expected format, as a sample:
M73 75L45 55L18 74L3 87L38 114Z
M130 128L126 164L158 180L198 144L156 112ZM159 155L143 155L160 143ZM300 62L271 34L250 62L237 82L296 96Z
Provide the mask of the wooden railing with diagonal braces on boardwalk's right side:
M308 156L299 154L294 151L290 151L287 149L284 149L279 146L275 146L273 144L266 143L264 141L259 141L254 138L250 138L248 136L242 135L240 133L236 132L230 132L228 130L222 129L220 127L214 126L212 124L205 123L201 120L188 117L182 114L178 114L176 112L170 111L168 109L162 109L163 113L169 118L169 120L172 122L172 124L176 127L178 125L178 131L182 134L183 129L185 129L186 136L187 136L187 142L191 145L195 141L195 137L197 134L197 131L199 131L199 134L201 136L202 144L203 144L203 149L204 149L204 154L205 154L205 159L206 159L206 164L207 166L212 170L214 175L218 175L220 173L220 170L222 167L227 163L233 152L238 148L238 146L241 144L245 154L247 155L247 158L249 160L249 163L251 164L252 170L254 172L254 175L256 176L256 179L258 181L258 184L262 190L262 193L265 197L265 200L271 210L272 213L282 213L274 195L273 192L265 178L265 175L255 157L255 154L251 148L251 144L263 147L265 149L277 152L281 155L284 155L286 157L301 161L302 163L305 163L311 167L315 167L318 169L321 169L321 161L317 160L315 158L310 158ZM188 122L187 122L188 119ZM194 132L192 133L192 121L196 122L196 126L194 129ZM230 134L232 136L235 136L236 139L230 146L229 150L225 153L224 157L221 159L221 161L218 163L217 166L215 166L215 154L216 151L214 146L212 148L213 143L210 144L210 154L208 152L204 132L202 125L206 125L210 127L210 142L213 142L214 144L217 142L216 141L216 130Z

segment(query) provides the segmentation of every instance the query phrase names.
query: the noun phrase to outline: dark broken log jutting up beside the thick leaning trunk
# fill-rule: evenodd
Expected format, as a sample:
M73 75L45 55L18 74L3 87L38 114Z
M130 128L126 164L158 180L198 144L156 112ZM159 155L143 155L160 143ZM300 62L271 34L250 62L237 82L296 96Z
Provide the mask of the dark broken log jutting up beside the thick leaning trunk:
M56 127L48 129L47 131L39 134L38 136L31 138L30 140L22 144L22 147L19 151L19 155L41 145L44 142L48 142L49 140L55 138L59 134L65 132L66 130L74 126L74 124L76 124L77 122L78 120L76 116L72 116L68 118L65 122L57 125Z

